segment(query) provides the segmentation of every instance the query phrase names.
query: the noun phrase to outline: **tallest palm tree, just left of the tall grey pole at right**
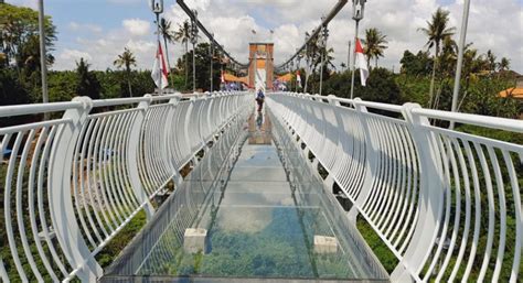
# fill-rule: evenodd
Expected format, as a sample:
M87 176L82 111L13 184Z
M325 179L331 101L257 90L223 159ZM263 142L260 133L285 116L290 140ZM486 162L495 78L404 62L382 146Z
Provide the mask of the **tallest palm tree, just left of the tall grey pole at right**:
M430 79L430 92L429 92L429 107L433 105L434 97L434 85L436 80L436 69L439 66L439 51L441 41L445 37L452 36L456 29L449 28L449 11L438 8L436 13L433 14L431 21L427 21L427 28L421 28L419 31L424 32L428 37L428 48L434 47L434 64L433 64L433 76Z

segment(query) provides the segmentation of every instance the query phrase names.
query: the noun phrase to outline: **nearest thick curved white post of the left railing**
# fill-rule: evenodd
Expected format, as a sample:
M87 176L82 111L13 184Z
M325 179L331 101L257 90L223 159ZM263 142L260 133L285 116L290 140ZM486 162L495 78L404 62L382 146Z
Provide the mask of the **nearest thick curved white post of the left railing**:
M75 182L71 179L73 162L76 162L73 161L75 145L93 102L88 97L76 97L73 101L81 101L83 108L65 111L63 119L71 122L60 129L53 144L49 162L49 209L56 239L73 272L83 282L94 282L102 276L103 270L82 236L71 194L72 182Z

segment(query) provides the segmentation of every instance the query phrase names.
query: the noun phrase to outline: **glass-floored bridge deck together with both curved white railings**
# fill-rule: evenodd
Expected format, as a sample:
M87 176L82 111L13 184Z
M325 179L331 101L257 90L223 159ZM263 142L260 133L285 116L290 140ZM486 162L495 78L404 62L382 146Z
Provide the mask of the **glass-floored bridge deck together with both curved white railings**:
M521 280L523 145L435 124L522 134L522 121L266 101L264 112L253 92L0 107L31 118L0 128L2 281ZM146 226L102 268L139 214Z

